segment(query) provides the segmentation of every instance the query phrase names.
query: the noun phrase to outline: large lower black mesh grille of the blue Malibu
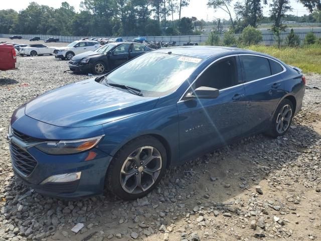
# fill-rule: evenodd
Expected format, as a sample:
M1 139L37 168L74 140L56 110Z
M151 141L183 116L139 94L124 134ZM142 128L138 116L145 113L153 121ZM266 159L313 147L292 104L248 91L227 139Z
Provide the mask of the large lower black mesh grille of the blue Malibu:
M10 144L10 151L13 165L26 176L30 175L37 166L37 161L15 143Z

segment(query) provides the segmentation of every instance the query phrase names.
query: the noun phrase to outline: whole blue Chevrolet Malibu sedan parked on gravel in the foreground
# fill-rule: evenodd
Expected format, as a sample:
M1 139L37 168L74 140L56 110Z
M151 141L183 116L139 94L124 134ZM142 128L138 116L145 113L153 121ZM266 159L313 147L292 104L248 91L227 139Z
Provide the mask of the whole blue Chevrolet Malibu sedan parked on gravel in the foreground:
M301 71L257 52L179 47L49 91L18 108L8 138L16 175L65 199L150 192L166 168L257 133L284 135Z

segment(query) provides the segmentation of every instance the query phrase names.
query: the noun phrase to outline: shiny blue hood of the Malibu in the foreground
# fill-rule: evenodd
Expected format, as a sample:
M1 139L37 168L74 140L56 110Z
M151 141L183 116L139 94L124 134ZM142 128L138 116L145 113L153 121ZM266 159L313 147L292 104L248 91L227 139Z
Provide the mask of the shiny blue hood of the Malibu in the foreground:
M54 126L89 127L148 111L157 100L158 97L134 95L88 79L31 100L25 114Z

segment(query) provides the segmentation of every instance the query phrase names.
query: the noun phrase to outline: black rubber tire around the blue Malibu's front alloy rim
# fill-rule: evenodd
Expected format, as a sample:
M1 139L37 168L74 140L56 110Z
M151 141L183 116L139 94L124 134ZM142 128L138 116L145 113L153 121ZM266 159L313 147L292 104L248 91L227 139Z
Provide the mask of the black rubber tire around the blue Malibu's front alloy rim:
M154 148L153 150L157 151L157 153L159 153L159 155L161 156L161 158L153 159L153 161L161 163L161 165L159 165L159 171L157 171L157 173L153 172L153 174L157 175L156 179L152 178L153 184L152 184L152 182L149 183L148 186L146 187L147 188L146 190L143 191L143 189L136 187L136 189L134 189L134 190L138 190L138 192L129 193L121 185L121 178L122 178L121 175L123 175L123 174L121 174L121 170L123 170L124 165L126 165L125 162L128 163L127 158L133 152L135 152L135 150L137 150L141 147L146 147L146 146L153 147ZM144 150L144 149L142 149L142 150ZM143 153L143 152L141 152L141 153ZM139 160L141 160L140 155L139 155ZM151 161L150 163L152 164L153 161ZM143 166L144 164L141 164L141 165ZM149 165L149 164L147 164L147 165ZM142 136L142 137L136 138L136 139L130 141L129 143L127 143L126 145L124 145L114 155L114 158L112 159L112 161L108 167L107 173L106 173L105 186L113 194L115 194L116 196L118 196L124 200L134 200L137 198L141 198L141 197L147 195L150 191L152 191L155 188L155 186L159 183L159 181L162 179L162 176L165 173L166 165L167 165L167 153L166 153L165 147L163 146L163 144L161 142L159 142L157 139L155 139L151 136ZM142 166L139 166L138 169L137 168L135 168L135 169L139 170ZM146 168L146 166L144 168ZM143 180L143 178L145 178L145 181L148 181L148 179L150 181L151 176L148 176L148 174L146 174L144 172L144 168L142 168L142 170L137 171L137 173L135 173L135 175L132 175L130 178L137 179L138 178L137 174L139 173L139 177L141 177L140 180ZM147 167L147 168L149 168L149 167ZM129 171L136 172L136 170L134 170L134 168L130 169ZM144 173L145 173L145 175L143 176L142 174L144 174ZM130 178L128 178L128 180L130 180ZM143 186L143 185L145 185L145 184L142 183L141 186ZM139 189L141 192L139 192Z

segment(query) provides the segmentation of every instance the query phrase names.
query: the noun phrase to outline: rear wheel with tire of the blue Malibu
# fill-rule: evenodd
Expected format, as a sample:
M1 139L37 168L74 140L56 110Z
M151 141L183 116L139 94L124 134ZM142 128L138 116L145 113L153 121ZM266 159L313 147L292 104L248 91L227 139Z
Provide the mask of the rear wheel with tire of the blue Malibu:
M284 113L284 111L288 110L289 108L290 108L289 110L290 112L287 112L287 114L283 116L282 113ZM288 99L283 99L277 106L272 118L272 122L270 123L270 127L265 132L265 134L274 138L283 136L291 126L293 114L294 114L293 103ZM286 119L288 119L288 121L286 121ZM280 121L282 122L282 127L281 125L279 125Z

